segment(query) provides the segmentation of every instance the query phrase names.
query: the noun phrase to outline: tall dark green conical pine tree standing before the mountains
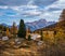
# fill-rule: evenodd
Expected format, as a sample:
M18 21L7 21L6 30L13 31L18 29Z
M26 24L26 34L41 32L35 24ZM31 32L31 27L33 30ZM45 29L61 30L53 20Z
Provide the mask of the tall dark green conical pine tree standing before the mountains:
M21 19L17 36L20 38L24 38L24 39L26 38L26 27L23 19Z

